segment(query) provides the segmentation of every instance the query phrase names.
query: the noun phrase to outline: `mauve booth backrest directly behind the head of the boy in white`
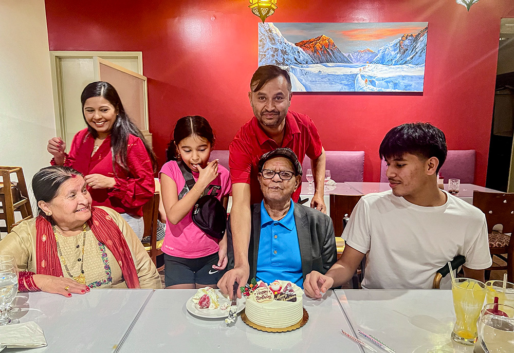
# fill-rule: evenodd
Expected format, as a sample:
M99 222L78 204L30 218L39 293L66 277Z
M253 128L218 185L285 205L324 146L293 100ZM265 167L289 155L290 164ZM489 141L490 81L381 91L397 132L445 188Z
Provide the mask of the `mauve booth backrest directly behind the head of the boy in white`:
M448 183L449 178L461 179L462 183L472 184L475 181L475 150L449 150L446 161L439 173ZM386 161L382 159L380 181L387 182Z

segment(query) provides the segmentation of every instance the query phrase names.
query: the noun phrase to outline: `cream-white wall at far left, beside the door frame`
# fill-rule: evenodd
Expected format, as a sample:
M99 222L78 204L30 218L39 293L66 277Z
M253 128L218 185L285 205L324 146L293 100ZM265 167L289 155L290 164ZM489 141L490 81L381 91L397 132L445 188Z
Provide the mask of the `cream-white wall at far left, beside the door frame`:
M44 0L1 0L0 165L21 166L30 187L55 135Z

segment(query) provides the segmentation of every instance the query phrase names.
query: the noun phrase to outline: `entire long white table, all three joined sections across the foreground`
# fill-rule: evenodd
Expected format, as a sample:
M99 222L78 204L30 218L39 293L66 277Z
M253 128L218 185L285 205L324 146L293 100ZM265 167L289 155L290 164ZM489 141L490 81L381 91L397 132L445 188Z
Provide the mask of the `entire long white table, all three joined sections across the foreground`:
M14 319L34 321L47 346L5 352L345 352L373 353L341 333L373 335L397 353L471 353L453 342L451 290L336 289L322 299L303 296L309 318L288 332L263 332L237 315L206 318L188 311L195 289L94 289L66 298L45 292L19 293ZM241 301L241 300L240 300ZM479 351L479 350L478 350ZM476 351L475 351L476 352Z

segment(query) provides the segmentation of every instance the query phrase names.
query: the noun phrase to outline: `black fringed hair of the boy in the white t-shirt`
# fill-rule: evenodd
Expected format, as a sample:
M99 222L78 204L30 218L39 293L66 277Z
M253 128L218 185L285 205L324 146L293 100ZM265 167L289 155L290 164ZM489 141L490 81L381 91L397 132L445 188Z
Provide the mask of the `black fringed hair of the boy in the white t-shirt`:
M380 158L401 158L411 153L426 159L439 160L436 173L443 166L448 150L445 134L430 123L407 123L393 127L384 137L378 153Z

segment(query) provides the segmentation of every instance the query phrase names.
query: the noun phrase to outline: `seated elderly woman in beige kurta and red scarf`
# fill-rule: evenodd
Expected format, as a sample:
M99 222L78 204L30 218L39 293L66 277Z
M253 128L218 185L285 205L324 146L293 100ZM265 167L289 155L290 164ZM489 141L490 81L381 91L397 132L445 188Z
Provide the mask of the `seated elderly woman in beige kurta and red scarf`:
M0 241L14 256L21 291L71 296L89 288L161 288L159 274L116 211L91 207L82 174L53 165L32 178L40 214Z

